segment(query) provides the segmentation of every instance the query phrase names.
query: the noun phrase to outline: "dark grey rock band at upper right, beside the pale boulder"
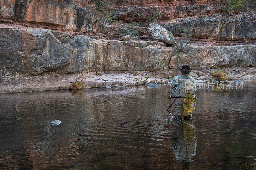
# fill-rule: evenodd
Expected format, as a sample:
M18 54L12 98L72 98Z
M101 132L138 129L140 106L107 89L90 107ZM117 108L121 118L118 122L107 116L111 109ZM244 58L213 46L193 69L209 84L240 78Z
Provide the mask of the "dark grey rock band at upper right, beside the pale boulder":
M250 16L250 17L249 17ZM172 34L181 34L183 27L187 26L188 31L194 38L214 40L251 40L256 37L255 14L246 17L236 16L234 18L187 18L173 23L169 30Z

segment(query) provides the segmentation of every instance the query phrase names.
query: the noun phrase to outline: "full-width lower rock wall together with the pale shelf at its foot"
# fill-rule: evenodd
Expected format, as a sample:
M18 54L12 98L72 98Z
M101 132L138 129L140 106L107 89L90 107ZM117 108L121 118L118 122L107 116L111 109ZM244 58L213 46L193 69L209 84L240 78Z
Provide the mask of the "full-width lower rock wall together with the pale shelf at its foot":
M4 24L0 25L0 41L1 93L68 89L85 72L102 72L100 77L88 73L94 76L84 77L86 88L166 83L171 79L147 77L172 77L183 64L172 47L159 41L95 40L85 35ZM254 78L255 54L254 45L192 44L179 57L193 70L199 69L203 77L198 79L210 78L209 69L216 68L232 68L233 78Z

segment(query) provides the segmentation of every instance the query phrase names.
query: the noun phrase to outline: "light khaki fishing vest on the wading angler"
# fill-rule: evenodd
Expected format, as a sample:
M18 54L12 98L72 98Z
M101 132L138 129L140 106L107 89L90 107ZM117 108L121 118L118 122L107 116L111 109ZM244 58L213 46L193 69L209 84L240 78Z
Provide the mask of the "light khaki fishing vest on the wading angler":
M175 80L175 84L171 84L174 91L170 94L170 98L174 97L185 97L187 93L187 89L189 88L189 92L196 99L196 84L195 79L190 76L180 75L175 76L173 78ZM188 86L188 87L187 87Z

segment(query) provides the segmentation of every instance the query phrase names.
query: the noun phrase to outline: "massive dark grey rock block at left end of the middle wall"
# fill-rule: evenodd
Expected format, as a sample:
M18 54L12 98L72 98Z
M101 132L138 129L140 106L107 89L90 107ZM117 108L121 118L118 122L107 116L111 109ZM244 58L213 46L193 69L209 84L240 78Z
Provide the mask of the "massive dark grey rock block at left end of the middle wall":
M92 71L94 42L88 36L47 29L0 28L0 76Z

